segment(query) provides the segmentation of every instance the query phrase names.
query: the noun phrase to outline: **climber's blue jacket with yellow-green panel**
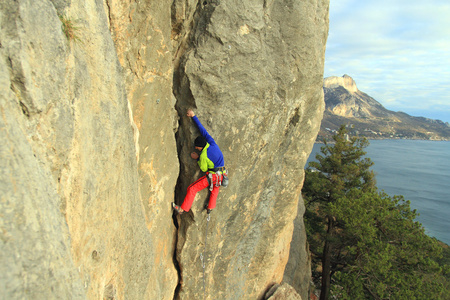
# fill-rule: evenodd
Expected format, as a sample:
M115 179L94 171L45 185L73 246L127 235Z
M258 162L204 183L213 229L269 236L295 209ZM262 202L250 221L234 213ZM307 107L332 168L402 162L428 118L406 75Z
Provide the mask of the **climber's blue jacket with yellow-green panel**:
M194 120L198 130L207 142L198 159L200 169L203 172L208 170L211 172L214 168L224 167L225 161L223 159L223 154L222 151L220 151L219 146L216 144L216 141L214 141L214 139L209 135L208 131L206 131L205 127L203 127L202 123L200 123L197 116L193 116L192 120Z

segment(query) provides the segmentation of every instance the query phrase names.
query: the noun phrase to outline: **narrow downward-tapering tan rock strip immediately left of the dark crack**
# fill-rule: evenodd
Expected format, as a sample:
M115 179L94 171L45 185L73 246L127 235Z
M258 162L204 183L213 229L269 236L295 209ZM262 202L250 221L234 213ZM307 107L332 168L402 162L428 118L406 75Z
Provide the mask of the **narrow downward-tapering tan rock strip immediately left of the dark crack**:
M172 299L178 283L173 263L174 201L179 164L178 116L172 94L171 1L107 1L110 29L125 72L135 126L139 188L154 245L148 299Z

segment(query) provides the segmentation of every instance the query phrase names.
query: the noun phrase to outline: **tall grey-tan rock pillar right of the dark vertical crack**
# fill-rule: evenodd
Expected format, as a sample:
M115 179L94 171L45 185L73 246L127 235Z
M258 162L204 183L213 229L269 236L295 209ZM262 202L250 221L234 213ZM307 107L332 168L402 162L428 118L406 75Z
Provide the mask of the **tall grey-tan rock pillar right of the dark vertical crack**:
M222 148L219 193L204 251L207 191L179 219L179 298L256 299L283 279L303 167L320 124L328 2L205 1L175 70L181 203L200 174L189 153L197 114ZM304 247L304 245L303 245ZM309 270L304 270L309 273ZM203 289L205 280L205 290Z

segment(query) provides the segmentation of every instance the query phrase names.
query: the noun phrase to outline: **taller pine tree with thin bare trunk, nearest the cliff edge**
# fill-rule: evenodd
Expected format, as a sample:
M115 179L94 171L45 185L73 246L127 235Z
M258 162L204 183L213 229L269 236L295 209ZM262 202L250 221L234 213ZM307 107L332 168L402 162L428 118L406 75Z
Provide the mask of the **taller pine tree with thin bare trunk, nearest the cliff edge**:
M370 171L373 163L364 158L367 147L366 139L348 138L345 126L341 126L333 136L334 143L321 148L323 155L317 154L318 162L311 162L307 170L303 188L308 205L317 209L319 218L325 223L325 231L321 232L324 240L322 261L322 288L320 299L328 299L331 289L331 276L336 268L342 265L342 250L345 243L339 238L342 227L331 209L342 197L349 196L352 189L370 191L374 189L374 174Z

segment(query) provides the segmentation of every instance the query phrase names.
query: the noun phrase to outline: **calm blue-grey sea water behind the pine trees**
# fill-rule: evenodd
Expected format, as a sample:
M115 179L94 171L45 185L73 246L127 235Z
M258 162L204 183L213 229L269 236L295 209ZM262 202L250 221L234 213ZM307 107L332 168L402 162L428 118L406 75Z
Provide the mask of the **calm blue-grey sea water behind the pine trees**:
M416 209L425 232L450 245L450 142L370 140L366 157L374 165L377 187L403 195ZM308 162L323 144L315 144Z

